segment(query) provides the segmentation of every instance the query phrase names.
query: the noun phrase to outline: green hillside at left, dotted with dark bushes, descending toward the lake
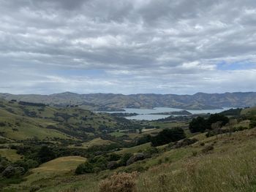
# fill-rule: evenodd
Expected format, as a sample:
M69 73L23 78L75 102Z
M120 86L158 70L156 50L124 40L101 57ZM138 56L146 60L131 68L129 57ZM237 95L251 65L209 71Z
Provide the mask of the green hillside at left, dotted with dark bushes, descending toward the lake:
M0 136L6 139L86 141L127 124L129 120L117 120L79 107L57 108L0 99Z

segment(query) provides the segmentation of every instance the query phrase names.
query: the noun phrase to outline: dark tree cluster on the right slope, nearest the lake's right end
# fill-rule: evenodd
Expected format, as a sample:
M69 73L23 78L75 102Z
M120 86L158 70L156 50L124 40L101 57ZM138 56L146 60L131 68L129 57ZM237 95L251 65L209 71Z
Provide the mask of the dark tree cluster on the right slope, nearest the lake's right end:
M189 123L189 130L192 133L203 133L204 131L206 131L206 129L211 130L212 124L217 122L220 122L219 126L222 127L229 122L229 118L221 114L211 114L207 119L199 116L197 118L193 118L192 121Z

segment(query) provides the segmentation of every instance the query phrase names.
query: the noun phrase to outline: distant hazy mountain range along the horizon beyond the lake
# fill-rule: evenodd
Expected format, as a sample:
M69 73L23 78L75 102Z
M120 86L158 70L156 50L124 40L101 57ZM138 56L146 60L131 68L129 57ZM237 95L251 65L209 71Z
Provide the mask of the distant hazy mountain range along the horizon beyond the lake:
M173 107L184 110L211 110L222 107L256 106L256 92L176 94L113 94L113 93L55 93L51 95L13 95L0 93L2 99L15 99L53 106L79 105L87 110L115 111L121 108Z

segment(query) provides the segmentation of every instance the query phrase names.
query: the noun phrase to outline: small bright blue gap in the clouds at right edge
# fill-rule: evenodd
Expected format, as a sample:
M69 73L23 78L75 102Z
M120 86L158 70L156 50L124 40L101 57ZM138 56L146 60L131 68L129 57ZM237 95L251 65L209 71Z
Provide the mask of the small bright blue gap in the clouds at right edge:
M238 61L232 63L222 61L217 64L217 69L222 71L256 69L256 64L250 61Z

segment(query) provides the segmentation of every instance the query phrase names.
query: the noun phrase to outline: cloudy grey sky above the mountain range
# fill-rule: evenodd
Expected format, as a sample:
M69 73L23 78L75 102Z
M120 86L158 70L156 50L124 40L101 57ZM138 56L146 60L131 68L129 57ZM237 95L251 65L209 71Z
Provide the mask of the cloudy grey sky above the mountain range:
M0 0L0 92L65 91L256 91L256 1Z

